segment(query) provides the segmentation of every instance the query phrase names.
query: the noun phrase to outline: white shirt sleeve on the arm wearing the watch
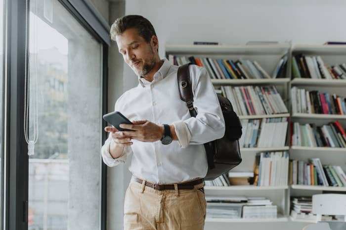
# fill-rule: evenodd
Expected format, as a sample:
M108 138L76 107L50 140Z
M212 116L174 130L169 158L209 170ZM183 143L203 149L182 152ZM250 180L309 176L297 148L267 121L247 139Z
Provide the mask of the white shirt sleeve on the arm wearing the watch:
M189 66L197 116L173 123L182 148L221 138L225 122L213 84L204 67ZM180 137L180 138L179 138Z

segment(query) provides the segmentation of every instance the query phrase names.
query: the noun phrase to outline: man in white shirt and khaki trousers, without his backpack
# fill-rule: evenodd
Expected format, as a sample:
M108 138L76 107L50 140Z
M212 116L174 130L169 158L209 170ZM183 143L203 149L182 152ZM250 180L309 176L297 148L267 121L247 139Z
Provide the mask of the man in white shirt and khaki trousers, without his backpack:
M132 178L125 195L125 230L202 230L206 216L203 178L208 163L203 143L221 138L225 127L213 85L203 67L189 66L197 117L180 99L177 69L160 59L151 23L138 15L117 19L111 38L124 61L138 75L115 110L133 131L110 132L102 146L105 164L125 163L133 153Z

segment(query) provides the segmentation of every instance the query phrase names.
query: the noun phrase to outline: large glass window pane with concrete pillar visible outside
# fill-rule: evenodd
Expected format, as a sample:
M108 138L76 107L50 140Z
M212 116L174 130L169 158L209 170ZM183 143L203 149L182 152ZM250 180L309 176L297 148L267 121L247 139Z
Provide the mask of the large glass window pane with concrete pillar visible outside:
M30 1L29 230L99 229L101 48L59 1Z

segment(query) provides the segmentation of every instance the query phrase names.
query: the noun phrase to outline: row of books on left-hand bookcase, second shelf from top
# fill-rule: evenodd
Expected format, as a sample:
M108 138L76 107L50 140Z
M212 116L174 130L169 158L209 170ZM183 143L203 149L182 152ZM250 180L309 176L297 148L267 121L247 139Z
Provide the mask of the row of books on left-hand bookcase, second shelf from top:
M275 86L221 86L222 94L238 115L287 113L287 107Z

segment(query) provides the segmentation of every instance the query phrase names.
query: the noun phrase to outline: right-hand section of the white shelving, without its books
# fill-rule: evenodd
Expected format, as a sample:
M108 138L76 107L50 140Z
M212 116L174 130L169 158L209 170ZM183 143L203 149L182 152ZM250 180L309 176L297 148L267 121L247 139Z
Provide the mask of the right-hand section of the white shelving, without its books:
M324 63L330 66L346 62L346 46L340 45L297 45L292 48L292 56L295 54L321 56ZM344 79L295 78L290 82L290 85L291 87L296 86L309 91L317 90L320 93L335 93L346 97L346 80ZM346 127L346 115L304 113L291 115L292 122L301 124L315 123L317 126L337 120L344 128ZM305 162L310 158L320 158L322 164L341 165L346 170L346 148L291 146L290 158ZM346 187L291 185L289 191L290 196L312 196L323 193L323 191L346 193ZM315 223L314 220L292 218L290 220Z

